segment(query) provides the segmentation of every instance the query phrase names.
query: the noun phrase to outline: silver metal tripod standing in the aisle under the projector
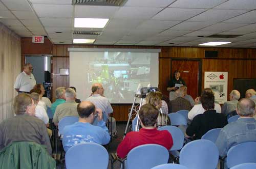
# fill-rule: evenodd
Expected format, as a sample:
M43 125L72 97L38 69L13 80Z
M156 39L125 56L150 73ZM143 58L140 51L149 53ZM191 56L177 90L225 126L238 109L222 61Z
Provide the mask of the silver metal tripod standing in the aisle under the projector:
M130 111L130 114L129 114L129 118L128 118L128 121L127 121L127 124L126 124L126 127L125 127L125 131L124 131L123 137L125 137L125 135L127 133L127 129L128 129L130 120L132 118L133 111L136 112L136 115L138 114L138 112L140 110L140 107L142 105L143 98L145 98L145 97L146 97L146 94L135 94L134 100L133 100L133 105L132 105L132 108L131 108L131 111ZM135 106L136 100L138 100L138 99L140 99L140 103ZM139 128L139 116L137 118L135 131L138 131L138 128Z

